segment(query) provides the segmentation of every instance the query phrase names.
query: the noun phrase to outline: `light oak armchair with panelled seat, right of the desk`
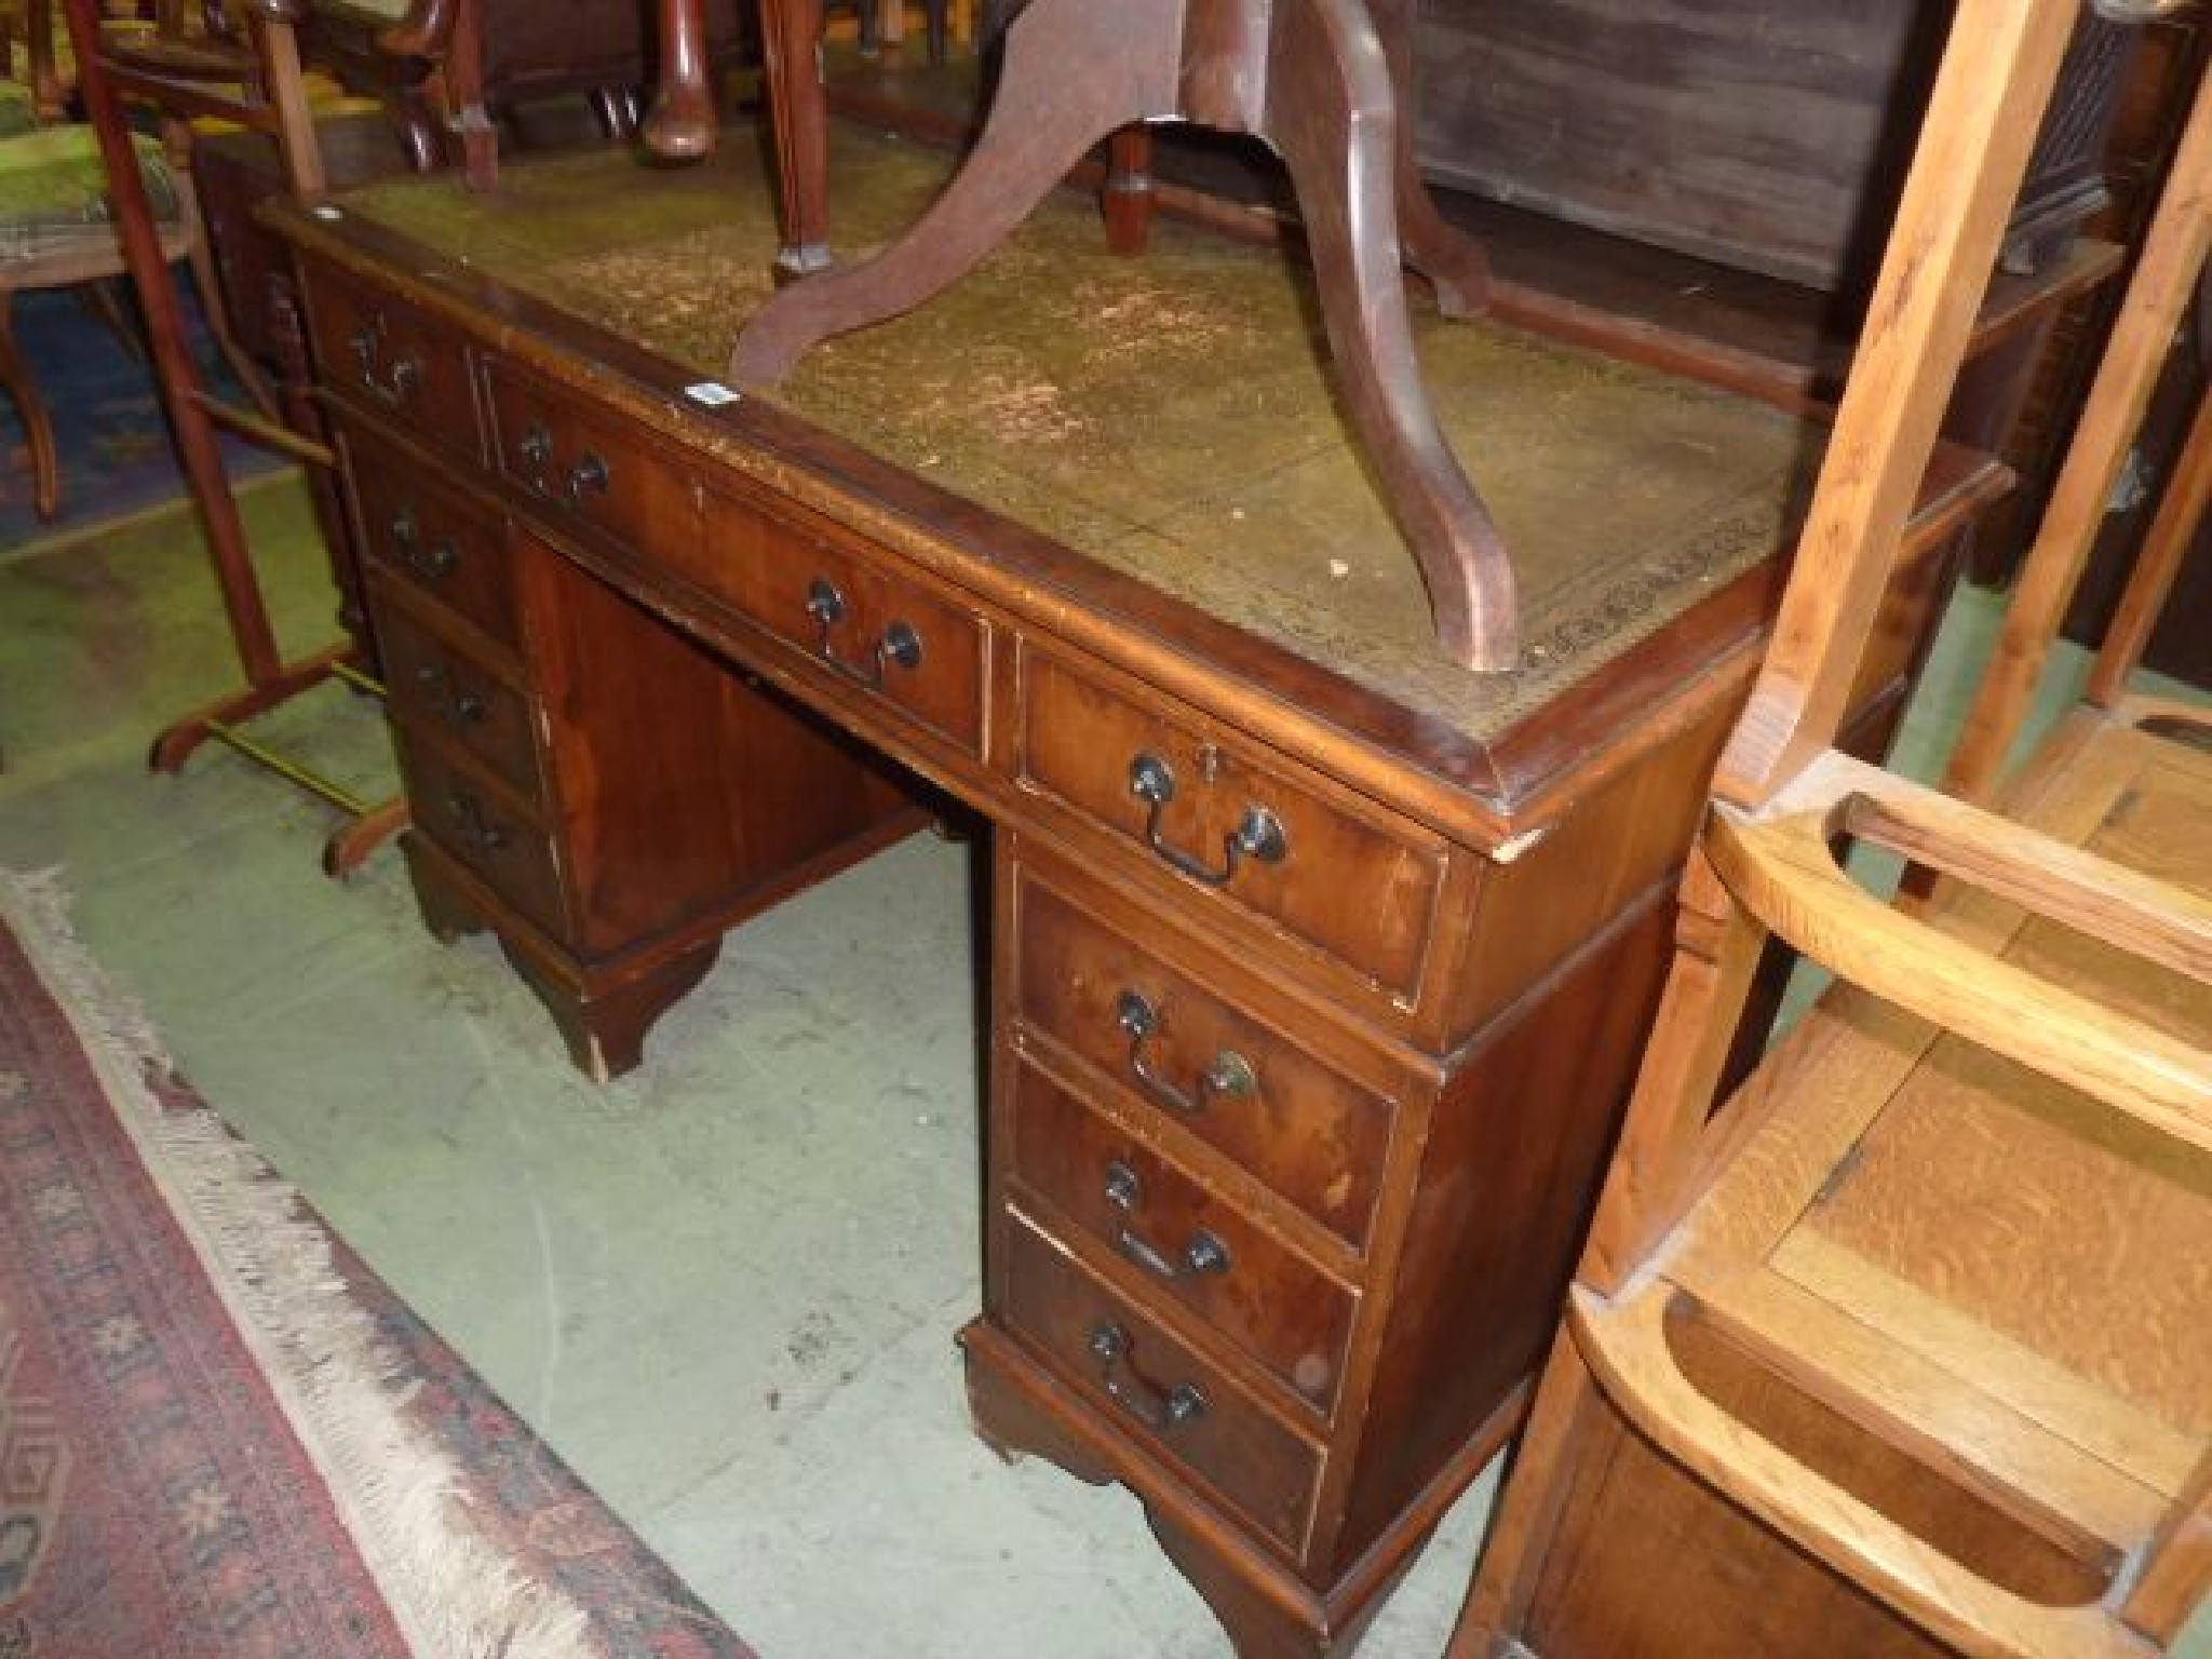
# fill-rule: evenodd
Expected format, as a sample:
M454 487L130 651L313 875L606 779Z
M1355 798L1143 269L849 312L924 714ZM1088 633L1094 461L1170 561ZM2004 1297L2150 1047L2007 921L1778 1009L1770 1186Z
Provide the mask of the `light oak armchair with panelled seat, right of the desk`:
M2002 814L1832 748L2073 7L1962 0L1453 1659L2163 1655L2212 1588L2212 717L2121 679ZM2199 88L1960 750L1993 779L2212 239ZM1938 872L1889 905L1840 838ZM1836 991L1717 1102L1767 936Z

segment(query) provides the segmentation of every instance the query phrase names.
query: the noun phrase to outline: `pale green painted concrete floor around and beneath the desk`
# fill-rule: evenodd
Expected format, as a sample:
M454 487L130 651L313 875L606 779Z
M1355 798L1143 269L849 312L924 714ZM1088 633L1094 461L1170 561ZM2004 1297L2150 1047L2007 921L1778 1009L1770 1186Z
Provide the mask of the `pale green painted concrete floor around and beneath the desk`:
M303 491L248 509L285 644L323 644ZM1953 608L1922 765L1986 633ZM967 1427L971 847L918 836L739 929L595 1088L489 942L422 931L394 852L338 885L332 814L234 754L146 774L153 732L232 684L186 515L0 549L0 863L66 872L208 1099L701 1597L768 1659L1228 1652L1135 1500ZM392 785L349 692L259 730ZM1363 1655L1440 1652L1486 1504L1489 1480Z

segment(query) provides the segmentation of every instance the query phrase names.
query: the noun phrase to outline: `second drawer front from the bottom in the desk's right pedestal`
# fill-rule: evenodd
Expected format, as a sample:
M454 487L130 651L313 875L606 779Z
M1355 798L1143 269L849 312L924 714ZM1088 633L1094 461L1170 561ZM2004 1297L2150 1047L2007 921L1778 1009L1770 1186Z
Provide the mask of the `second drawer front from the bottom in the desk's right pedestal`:
M1323 1416L1336 1405L1356 1296L1029 1066L1013 1170L1307 1405Z

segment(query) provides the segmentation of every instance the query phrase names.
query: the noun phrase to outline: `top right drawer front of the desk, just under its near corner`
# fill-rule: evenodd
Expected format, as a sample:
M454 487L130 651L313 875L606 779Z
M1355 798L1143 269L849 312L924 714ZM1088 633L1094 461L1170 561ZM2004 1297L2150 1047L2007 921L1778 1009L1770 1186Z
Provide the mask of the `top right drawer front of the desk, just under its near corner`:
M1048 653L1024 648L1022 670L1024 783L1181 876L1199 902L1259 916L1413 1002L1444 878L1440 843Z

